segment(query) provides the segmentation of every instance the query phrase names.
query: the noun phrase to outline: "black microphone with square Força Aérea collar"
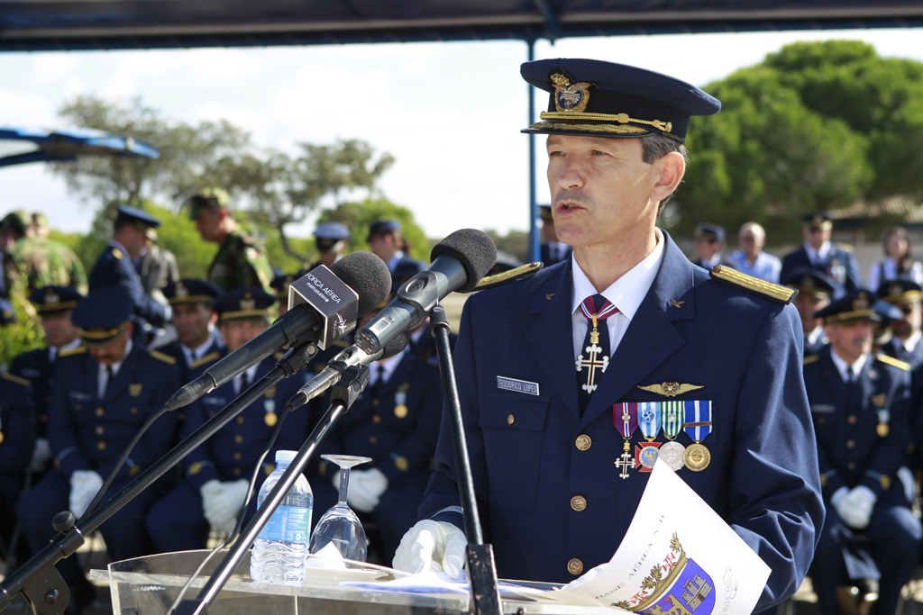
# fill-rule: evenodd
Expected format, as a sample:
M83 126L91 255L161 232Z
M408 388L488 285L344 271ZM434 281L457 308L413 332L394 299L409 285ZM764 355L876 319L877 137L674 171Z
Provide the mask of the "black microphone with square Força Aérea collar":
M347 254L329 269L315 267L294 282L298 287L290 290L292 309L176 391L165 407L173 410L192 403L278 349L307 341L320 342L324 348L352 331L359 316L388 298L390 279L388 266L370 252Z

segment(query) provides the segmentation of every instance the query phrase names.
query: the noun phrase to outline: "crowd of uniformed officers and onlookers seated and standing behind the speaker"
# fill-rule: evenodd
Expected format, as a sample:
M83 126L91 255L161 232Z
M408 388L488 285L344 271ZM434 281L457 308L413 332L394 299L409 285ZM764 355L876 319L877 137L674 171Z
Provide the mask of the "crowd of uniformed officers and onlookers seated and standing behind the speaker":
M332 265L349 248L344 225L321 224L314 232L318 262L285 274L242 230L221 189L194 195L187 208L202 241L217 245L204 279L182 277L174 255L158 246L161 221L143 209L117 207L111 241L89 275L73 252L48 239L42 214L14 211L3 219L0 319L6 324L16 317L11 299L20 293L45 341L18 355L0 377L0 556L7 565L25 562L47 544L54 514L88 514L99 491L103 502L121 491L270 372L278 356L160 417L118 466L167 398L265 331L287 309L294 280ZM541 213L542 261L569 259L550 211ZM741 226L739 248L724 254L725 230L701 223L692 260L713 272L746 274L755 289L797 290L792 302L803 329L804 383L828 504L811 570L815 591L825 612L845 609L842 585L860 586L860 597L877 596L882 613L894 612L923 537L915 508L923 266L911 256L906 231L894 227L863 285L850 247L832 242L830 215L817 212L803 221L804 242L781 260L763 251L760 224ZM366 242L390 270L387 301L426 268L408 255L395 220L371 224ZM371 558L381 563L391 562L416 522L436 448L442 391L426 328L412 332L406 349L371 366L366 390L319 450L371 458L354 468L347 500L366 526ZM255 514L256 497L247 496L251 477L258 477L258 490L275 451L300 448L327 408L318 398L306 411L286 416L282 410L336 351L321 352L305 373L267 390L102 524L109 555L122 560L202 549L215 532L231 533L240 514ZM339 472L318 456L307 478L316 522L337 502ZM78 612L92 595L89 583L75 558L58 568Z

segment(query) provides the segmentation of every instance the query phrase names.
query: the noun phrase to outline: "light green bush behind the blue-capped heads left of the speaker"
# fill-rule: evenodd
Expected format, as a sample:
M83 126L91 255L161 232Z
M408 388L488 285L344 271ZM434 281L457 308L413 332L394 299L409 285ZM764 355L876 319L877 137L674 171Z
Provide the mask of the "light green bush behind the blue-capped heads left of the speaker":
M350 231L349 251L368 250L366 237L368 225L378 220L394 219L401 223L404 240L410 243L410 255L424 263L429 262L431 249L426 234L417 226L410 209L395 205L384 198L367 198L364 201L342 203L321 213L320 222L341 222Z

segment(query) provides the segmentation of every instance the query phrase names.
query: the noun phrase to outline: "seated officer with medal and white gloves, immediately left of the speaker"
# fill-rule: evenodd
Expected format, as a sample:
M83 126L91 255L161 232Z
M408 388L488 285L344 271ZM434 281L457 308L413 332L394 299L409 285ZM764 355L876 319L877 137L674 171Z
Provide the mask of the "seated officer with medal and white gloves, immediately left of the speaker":
M374 315L368 314L367 319ZM324 454L372 458L350 472L346 499L363 520L375 521L378 533L369 539L378 538L379 554L390 562L404 532L416 522L436 451L443 396L429 320L414 330L405 349L368 367L371 378L366 390L321 448ZM323 398L318 406L327 401ZM318 479L311 484L317 518L337 503L339 468L321 461Z

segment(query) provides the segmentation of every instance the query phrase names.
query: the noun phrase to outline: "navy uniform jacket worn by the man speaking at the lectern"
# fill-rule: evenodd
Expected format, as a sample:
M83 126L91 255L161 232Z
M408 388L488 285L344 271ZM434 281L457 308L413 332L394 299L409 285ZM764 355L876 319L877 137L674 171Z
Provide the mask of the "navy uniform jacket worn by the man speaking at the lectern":
M582 416L569 265L465 304L454 361L485 538L505 578L567 582L573 560L582 570L608 562L650 476L618 477L613 404L711 400L713 432L701 443L711 465L677 476L772 568L757 606L766 609L797 590L823 522L800 320L793 306L711 279L663 234L660 270ZM502 389L498 376L537 384L538 395ZM674 397L639 388L663 383L702 388ZM642 440L635 432L632 449ZM692 444L685 432L677 441ZM461 524L438 514L460 503L448 420L436 464L421 517Z

